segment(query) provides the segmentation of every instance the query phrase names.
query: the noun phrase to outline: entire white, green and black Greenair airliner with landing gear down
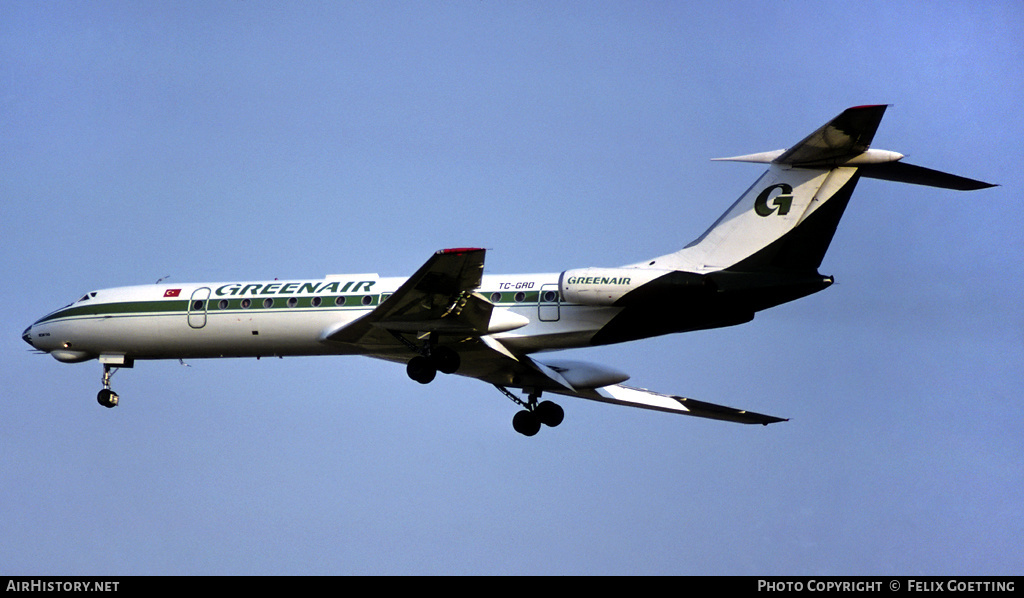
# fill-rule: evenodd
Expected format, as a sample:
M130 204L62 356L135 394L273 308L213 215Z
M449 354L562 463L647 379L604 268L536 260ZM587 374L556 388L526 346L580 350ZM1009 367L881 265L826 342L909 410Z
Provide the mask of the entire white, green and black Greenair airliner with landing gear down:
M59 361L98 359L111 375L139 359L368 355L496 386L531 436L557 426L563 394L746 424L782 418L625 386L610 368L537 358L544 351L743 324L833 284L818 272L862 176L970 190L993 186L869 148L885 105L851 108L788 150L724 158L768 170L707 232L674 253L618 267L484 274L482 249L445 249L408 279L157 284L93 291L23 338ZM510 388L520 389L522 398Z

